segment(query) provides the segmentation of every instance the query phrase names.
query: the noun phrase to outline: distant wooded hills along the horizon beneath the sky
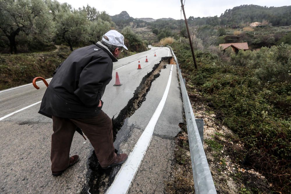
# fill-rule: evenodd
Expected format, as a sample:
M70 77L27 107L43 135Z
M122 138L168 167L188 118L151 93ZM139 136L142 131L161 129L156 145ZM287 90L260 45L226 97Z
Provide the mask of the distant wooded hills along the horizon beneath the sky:
M180 20L173 18L133 18L126 11L111 16L112 21L120 28L131 25L133 28L151 26L157 28L163 21L171 29L180 28ZM132 23L131 23L132 22ZM263 22L265 25L290 26L291 25L291 6L267 7L258 5L241 5L232 9L227 9L221 16L196 17L190 16L188 23L190 26L210 25L210 26L234 26L247 25L252 22ZM173 28L173 25L175 26Z

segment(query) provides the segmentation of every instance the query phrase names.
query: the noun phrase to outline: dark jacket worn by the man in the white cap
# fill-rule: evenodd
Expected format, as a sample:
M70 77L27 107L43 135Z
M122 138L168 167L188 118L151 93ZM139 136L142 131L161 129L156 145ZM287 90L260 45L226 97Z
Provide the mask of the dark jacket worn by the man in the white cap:
M92 118L97 116L106 85L112 79L117 59L108 48L96 45L73 51L58 66L42 98L38 113L52 118Z

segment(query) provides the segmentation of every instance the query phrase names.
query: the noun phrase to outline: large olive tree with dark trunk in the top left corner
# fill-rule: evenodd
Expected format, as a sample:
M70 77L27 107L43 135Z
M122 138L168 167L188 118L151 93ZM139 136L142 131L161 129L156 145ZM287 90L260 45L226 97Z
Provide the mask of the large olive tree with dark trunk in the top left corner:
M42 0L0 0L0 30L8 38L10 53L17 53L15 37L38 35L48 41L54 36L52 15Z

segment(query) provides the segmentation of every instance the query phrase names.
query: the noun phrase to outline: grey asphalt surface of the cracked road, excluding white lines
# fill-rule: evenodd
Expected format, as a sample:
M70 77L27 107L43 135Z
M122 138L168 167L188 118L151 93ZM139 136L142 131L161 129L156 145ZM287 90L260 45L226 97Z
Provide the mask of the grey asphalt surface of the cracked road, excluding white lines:
M152 71L162 57L171 56L171 51L166 47L150 48L113 63L113 79L102 97L102 110L109 117L116 117L120 113L133 97L143 77ZM155 52L157 56L154 56ZM146 56L148 63L145 63ZM141 62L141 70L137 70L138 61ZM115 142L119 152L129 154L132 151L162 99L170 71L171 65L166 65L161 70L141 107L130 118L126 118ZM122 86L113 86L116 72ZM148 151L128 193L152 193L153 190L163 193L164 181L170 175L173 137L178 133L178 123L182 122L182 101L176 65L173 65L172 72L167 100L155 126ZM0 91L0 193L80 193L88 184L88 157L93 150L88 140L85 141L76 133L70 155L78 154L80 161L62 176L53 177L50 169L52 120L37 113L40 104L3 119L10 113L41 101L46 86L42 82L38 86L39 90L27 85Z

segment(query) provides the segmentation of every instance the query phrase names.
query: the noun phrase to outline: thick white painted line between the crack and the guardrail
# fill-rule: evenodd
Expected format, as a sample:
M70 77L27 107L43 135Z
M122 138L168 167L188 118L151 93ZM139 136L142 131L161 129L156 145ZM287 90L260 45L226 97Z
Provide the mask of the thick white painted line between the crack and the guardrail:
M172 72L173 72L173 65L171 67L168 83L164 92L164 95L155 110L155 113L152 115L150 122L146 126L145 130L141 134L139 140L134 146L134 149L129 154L128 159L123 165L121 166L120 170L118 171L113 183L107 190L107 194L116 194L122 193L125 194L128 191L128 188L131 184L131 181L136 174L137 169L145 155L145 152L148 149L148 146L152 140L152 134L155 129L155 125L159 119L159 116L162 113L164 105L166 103L166 99L168 96L168 92L170 90L171 79L172 79Z

